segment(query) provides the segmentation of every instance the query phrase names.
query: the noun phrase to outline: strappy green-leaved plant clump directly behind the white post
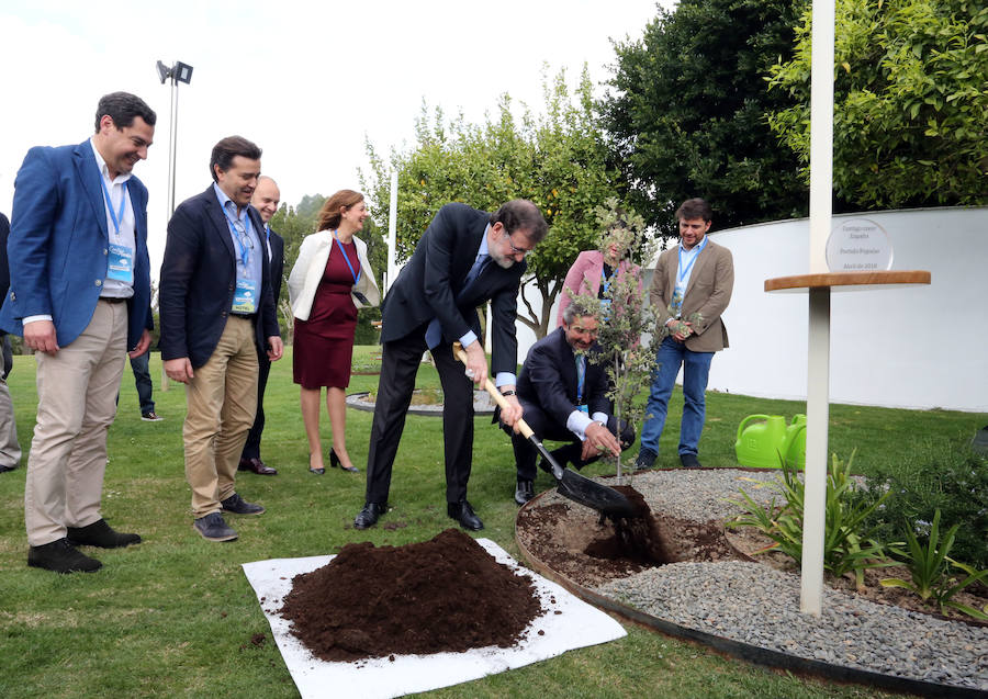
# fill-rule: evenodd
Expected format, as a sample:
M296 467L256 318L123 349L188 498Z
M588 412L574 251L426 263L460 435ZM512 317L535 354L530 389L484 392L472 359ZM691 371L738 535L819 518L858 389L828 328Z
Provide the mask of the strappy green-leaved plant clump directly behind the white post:
M851 475L854 454L845 462L833 455L827 473L827 501L824 506L823 568L840 577L853 573L858 588L864 586L864 571L889 565L882 544L872 538L865 525L867 517L888 497L880 495L872 501L852 498L857 489ZM806 486L797 470L783 464L782 477L776 477L772 487L785 498L782 506L773 498L767 510L755 503L744 491L741 498L733 500L744 509L733 520L726 522L730 528L754 527L772 539L774 545L760 551L781 551L797 562L802 561L802 529L806 503Z

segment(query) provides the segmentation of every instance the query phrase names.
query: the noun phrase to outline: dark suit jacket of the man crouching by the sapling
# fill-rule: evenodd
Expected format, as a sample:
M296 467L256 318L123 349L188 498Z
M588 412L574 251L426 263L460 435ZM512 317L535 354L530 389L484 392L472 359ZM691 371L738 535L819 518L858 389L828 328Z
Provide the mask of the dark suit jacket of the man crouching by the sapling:
M538 406L553 421L565 426L566 418L576 409L576 360L573 348L566 342L563 328L557 328L531 346L515 390L523 408ZM583 394L590 415L610 414L607 374L590 357L586 361Z

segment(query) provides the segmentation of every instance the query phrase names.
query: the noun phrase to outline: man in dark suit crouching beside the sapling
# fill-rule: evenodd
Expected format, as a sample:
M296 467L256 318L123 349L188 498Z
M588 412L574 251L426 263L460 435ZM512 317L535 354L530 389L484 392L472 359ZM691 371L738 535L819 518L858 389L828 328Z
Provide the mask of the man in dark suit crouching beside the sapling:
M599 351L591 305L597 303L590 296L570 303L563 311L563 325L531 346L518 375L518 399L528 426L540 439L569 442L551 452L563 467L572 463L582 469L603 453L617 456L635 441L635 430L621 420L618 443L607 374L603 365L591 361ZM537 452L521 435L504 428L515 450L515 501L525 505L535 495ZM548 471L547 464L542 466Z

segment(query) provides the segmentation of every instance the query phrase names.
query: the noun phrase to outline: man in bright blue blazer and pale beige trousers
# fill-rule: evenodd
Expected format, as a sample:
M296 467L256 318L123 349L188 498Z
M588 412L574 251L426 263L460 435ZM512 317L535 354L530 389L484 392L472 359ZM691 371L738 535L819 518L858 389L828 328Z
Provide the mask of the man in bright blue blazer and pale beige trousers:
M126 546L100 514L106 430L124 353L150 343L147 157L156 115L126 92L103 97L96 134L27 151L14 183L10 291L0 327L37 362L37 422L27 459L27 564L71 573L100 562L76 549Z

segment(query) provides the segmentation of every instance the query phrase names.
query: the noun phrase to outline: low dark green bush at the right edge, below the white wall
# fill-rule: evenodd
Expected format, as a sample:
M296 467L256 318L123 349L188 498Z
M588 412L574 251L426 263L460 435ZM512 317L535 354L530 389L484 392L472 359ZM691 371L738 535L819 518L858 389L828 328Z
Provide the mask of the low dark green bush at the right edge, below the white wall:
M951 555L977 568L988 567L988 459L974 453L967 439L924 441L895 464L875 464L864 491L873 500L890 494L867 525L884 541L901 540L902 522L943 521L957 526Z

